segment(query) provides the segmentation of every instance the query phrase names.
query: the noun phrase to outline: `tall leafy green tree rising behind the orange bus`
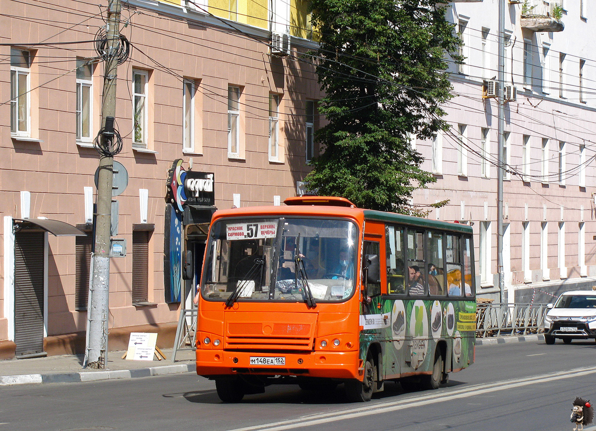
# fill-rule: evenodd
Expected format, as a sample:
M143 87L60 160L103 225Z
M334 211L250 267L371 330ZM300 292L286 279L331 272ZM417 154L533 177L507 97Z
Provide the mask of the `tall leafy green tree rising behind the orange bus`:
M436 0L312 0L317 73L325 97L316 132L324 150L306 176L310 190L359 207L421 215L412 191L436 181L420 169L408 133L447 129L448 58L460 38Z

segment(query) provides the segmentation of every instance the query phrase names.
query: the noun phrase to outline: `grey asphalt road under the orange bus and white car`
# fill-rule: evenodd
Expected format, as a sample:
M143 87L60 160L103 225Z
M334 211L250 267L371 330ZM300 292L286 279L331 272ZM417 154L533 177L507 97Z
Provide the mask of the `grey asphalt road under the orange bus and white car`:
M193 374L0 388L3 430L572 430L575 396L596 402L596 344L479 346L476 363L447 387L402 392L386 384L366 404L270 386L239 404ZM595 426L584 428L596 430Z

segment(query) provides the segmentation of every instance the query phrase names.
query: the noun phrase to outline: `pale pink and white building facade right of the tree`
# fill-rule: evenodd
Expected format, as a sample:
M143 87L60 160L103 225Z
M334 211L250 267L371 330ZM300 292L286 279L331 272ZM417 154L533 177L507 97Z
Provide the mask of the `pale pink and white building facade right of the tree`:
M505 2L505 301L549 302L596 284L596 10L588 3ZM449 7L466 60L450 70L449 131L415 142L437 182L414 199L448 199L429 217L473 224L477 293L496 300L498 7Z

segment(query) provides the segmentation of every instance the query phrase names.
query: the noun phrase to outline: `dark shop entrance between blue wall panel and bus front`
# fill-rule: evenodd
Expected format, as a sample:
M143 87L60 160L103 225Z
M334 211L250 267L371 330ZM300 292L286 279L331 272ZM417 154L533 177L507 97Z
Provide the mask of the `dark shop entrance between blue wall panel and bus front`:
M197 293L197 286L201 281L201 269L207 244L209 223L189 224L184 231L185 253L184 253L184 308L193 308L193 298Z

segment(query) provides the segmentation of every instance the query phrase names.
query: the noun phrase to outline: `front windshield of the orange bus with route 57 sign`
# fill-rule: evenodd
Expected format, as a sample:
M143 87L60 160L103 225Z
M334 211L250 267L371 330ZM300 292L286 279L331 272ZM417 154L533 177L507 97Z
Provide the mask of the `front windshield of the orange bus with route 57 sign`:
M353 293L357 238L344 219L220 219L209 237L203 297L342 301Z

